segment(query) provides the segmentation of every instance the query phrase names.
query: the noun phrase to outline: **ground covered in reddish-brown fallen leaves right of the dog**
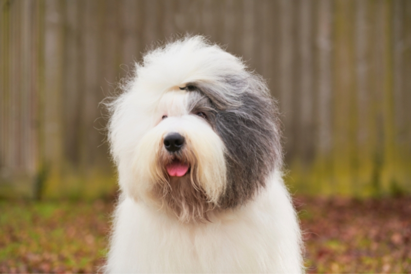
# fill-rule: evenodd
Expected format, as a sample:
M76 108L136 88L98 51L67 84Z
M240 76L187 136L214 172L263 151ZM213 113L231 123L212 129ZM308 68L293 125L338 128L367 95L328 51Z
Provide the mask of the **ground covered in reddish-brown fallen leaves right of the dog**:
M411 273L411 197L296 197L310 273Z

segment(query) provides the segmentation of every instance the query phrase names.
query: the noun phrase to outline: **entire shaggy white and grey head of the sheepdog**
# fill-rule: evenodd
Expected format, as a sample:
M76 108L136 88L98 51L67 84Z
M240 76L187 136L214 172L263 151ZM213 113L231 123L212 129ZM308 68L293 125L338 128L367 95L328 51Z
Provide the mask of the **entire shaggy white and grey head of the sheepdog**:
M147 53L109 104L122 191L180 221L242 205L282 165L267 85L200 36Z

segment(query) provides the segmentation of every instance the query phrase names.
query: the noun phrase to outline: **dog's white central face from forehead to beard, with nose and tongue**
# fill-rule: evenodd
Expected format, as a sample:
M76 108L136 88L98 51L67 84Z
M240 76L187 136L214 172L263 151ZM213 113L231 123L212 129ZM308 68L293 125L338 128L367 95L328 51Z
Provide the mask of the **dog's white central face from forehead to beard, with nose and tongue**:
M206 217L225 191L225 145L209 123L212 112L198 92L170 90L155 111L156 125L136 150L134 176L148 184L145 195L181 221ZM137 196L140 187L129 185L128 192Z

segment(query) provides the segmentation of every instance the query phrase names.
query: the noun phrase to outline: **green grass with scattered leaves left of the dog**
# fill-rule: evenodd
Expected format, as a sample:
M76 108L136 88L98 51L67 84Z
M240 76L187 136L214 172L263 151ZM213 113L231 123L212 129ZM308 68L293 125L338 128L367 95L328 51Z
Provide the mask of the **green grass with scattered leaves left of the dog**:
M0 272L96 272L112 209L102 200L0 202Z

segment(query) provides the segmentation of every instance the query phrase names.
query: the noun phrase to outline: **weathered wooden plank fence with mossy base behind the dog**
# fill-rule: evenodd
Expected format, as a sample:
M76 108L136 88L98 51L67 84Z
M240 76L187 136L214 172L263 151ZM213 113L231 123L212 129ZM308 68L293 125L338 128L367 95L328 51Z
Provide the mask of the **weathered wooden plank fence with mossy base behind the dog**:
M99 102L184 33L268 80L293 192L411 190L411 1L0 0L0 196L114 189Z

